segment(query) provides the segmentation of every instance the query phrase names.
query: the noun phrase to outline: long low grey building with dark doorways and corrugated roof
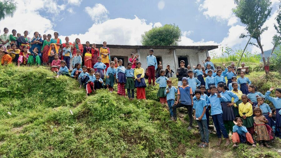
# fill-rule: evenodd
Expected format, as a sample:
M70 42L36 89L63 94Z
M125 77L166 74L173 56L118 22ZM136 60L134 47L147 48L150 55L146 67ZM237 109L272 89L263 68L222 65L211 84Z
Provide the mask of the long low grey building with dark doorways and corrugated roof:
M97 48L102 47L97 44ZM218 46L130 46L130 45L107 45L110 49L111 61L113 58L123 60L126 67L131 58L131 53L139 55L139 61L142 68L147 68L146 56L149 55L149 49L154 49L153 55L156 57L157 62L162 62L163 69L169 64L170 68L176 72L180 65L180 61L185 61L185 67L189 64L191 67L196 66L198 63L202 64L209 56L208 51L218 48ZM125 62L124 62L125 61Z

